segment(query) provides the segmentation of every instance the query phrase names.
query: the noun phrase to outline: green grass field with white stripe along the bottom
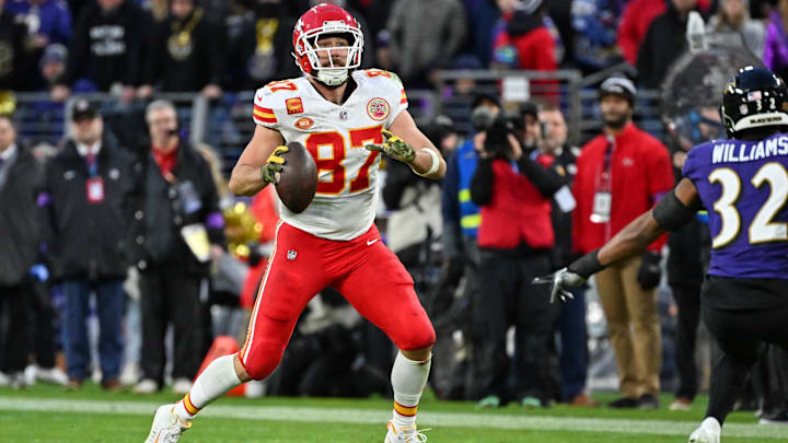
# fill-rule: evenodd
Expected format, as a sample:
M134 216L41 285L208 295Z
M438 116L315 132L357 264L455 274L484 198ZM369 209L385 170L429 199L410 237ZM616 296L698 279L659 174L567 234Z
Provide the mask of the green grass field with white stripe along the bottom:
M614 395L594 397L606 401ZM141 443L155 407L177 398L166 393L104 393L95 385L78 393L42 384L27 390L0 388L0 442ZM656 411L563 405L477 410L471 403L438 401L428 394L419 408L419 427L431 428L430 443L685 443L703 418L706 398L687 412L667 410L671 399L662 396L662 408ZM182 442L382 443L390 415L391 401L382 398L222 398L195 419ZM722 442L788 442L788 427L758 425L752 412L737 412L726 423Z

